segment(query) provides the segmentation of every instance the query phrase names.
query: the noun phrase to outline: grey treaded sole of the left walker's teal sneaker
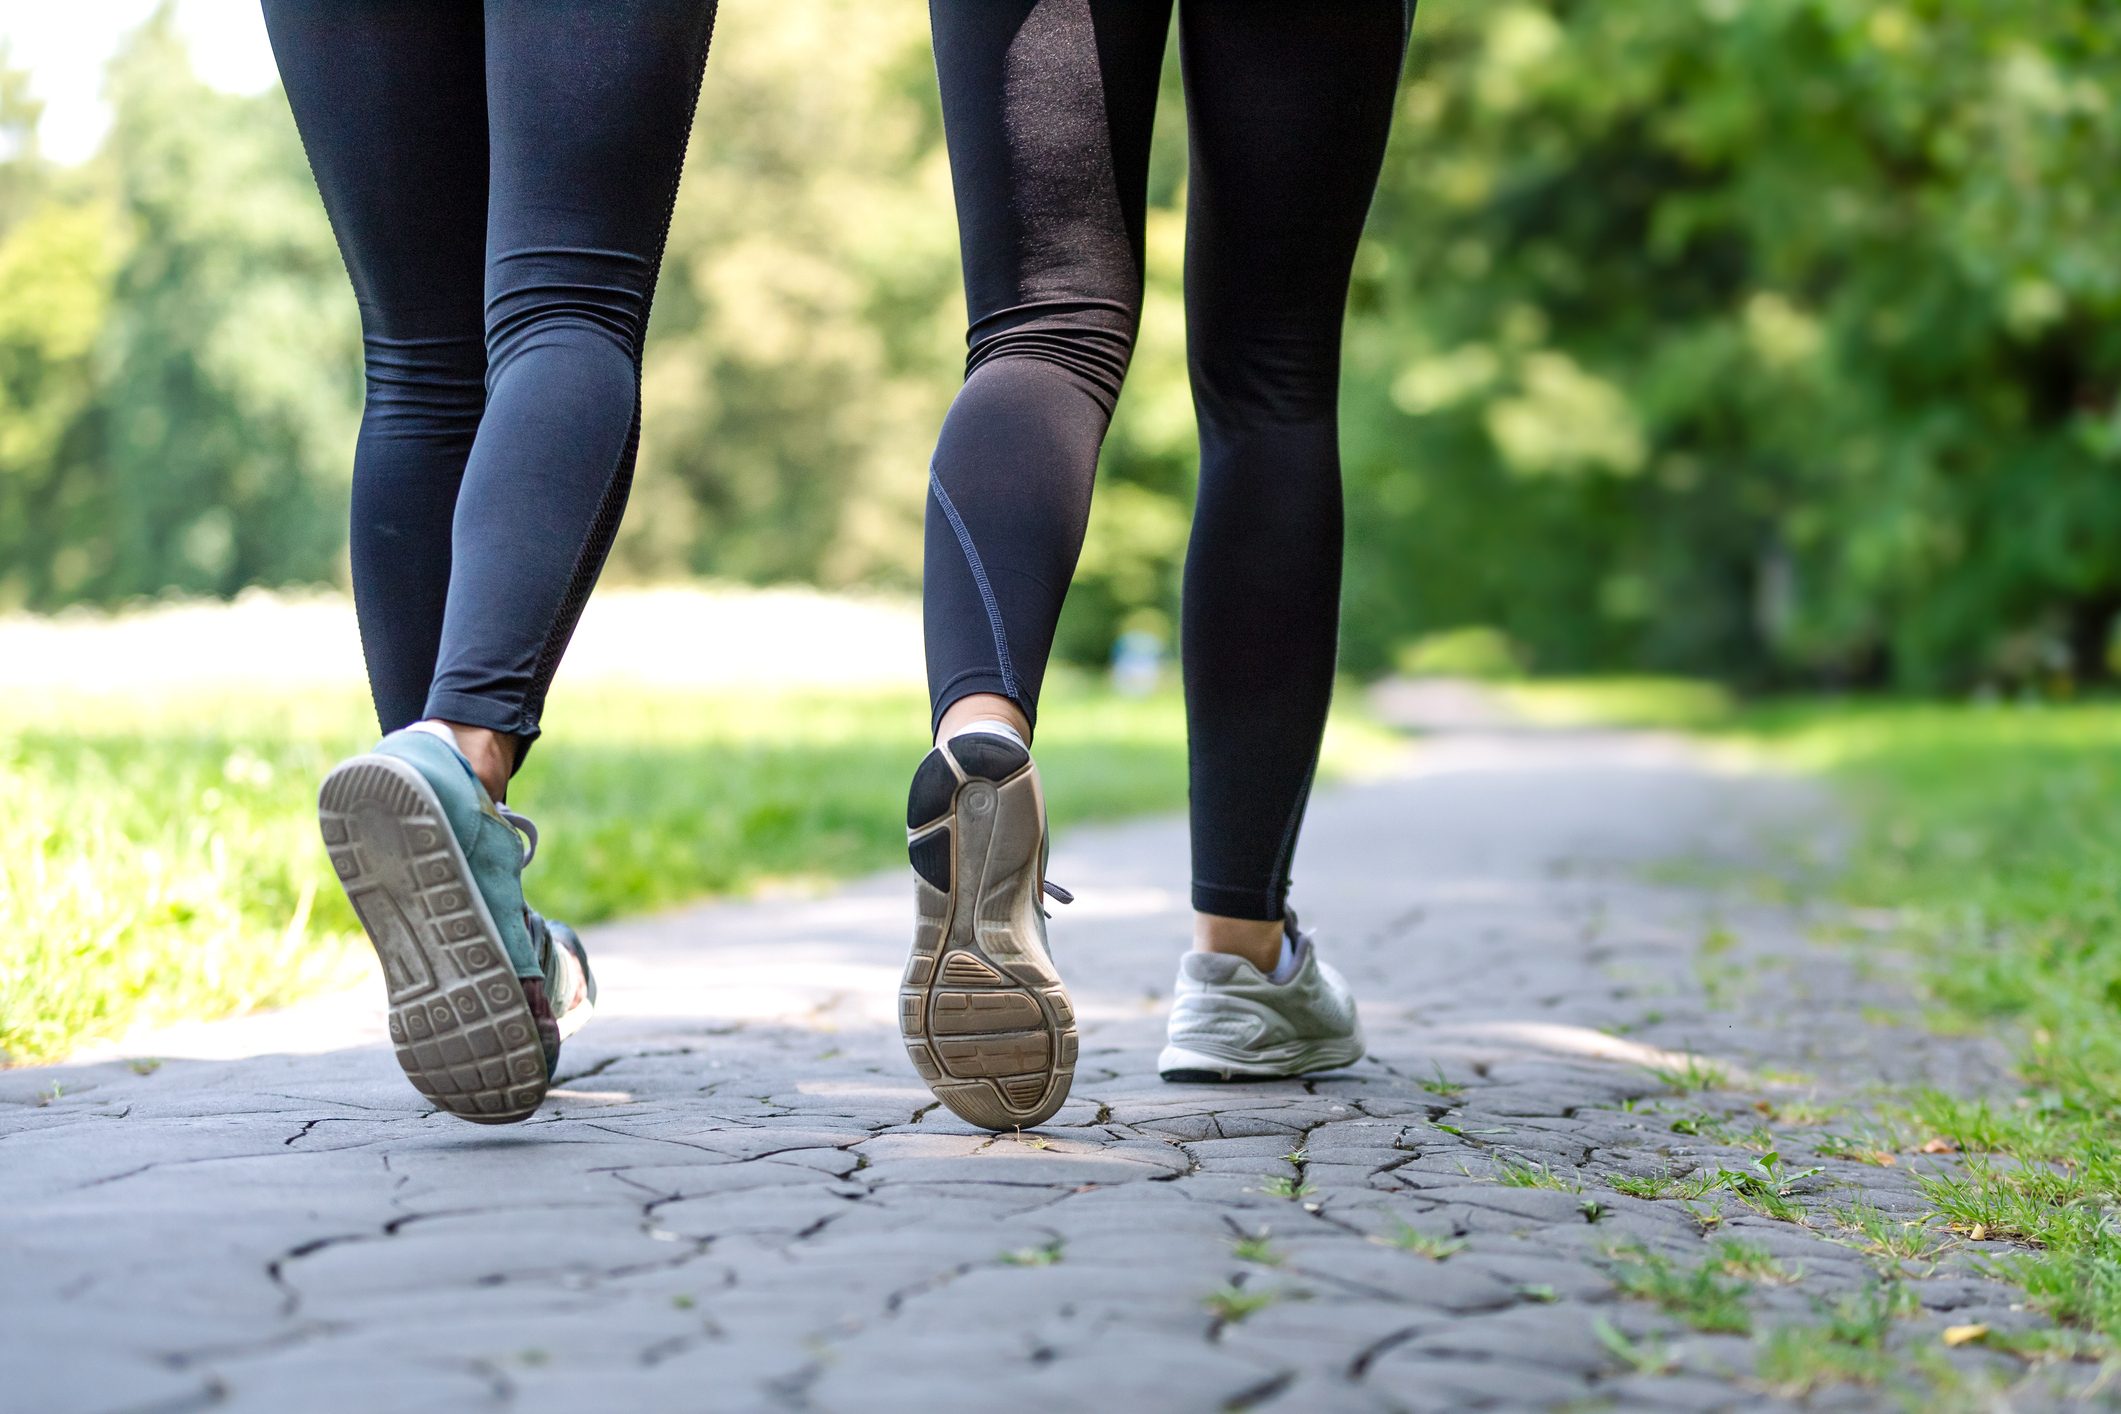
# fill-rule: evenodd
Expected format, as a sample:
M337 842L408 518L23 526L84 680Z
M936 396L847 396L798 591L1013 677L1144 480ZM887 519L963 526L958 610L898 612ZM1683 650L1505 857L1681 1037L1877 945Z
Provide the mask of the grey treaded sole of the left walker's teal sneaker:
M384 967L405 1079L458 1119L528 1119L549 1085L537 1018L435 789L354 757L325 776L316 825Z

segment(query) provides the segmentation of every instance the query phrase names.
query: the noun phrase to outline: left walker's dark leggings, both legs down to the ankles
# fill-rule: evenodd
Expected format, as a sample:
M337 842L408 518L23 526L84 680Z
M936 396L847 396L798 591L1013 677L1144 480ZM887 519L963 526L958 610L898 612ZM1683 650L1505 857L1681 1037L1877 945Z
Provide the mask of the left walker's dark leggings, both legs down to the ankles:
M611 549L715 0L265 0L361 301L354 608L386 731L528 744Z

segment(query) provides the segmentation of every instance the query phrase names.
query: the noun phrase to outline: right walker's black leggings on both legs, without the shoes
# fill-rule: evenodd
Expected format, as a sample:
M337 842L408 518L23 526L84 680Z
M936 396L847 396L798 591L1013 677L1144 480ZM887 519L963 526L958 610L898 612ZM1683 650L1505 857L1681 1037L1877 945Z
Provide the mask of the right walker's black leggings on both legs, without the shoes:
M929 481L935 719L1031 717L1141 312L1171 0L931 0L971 314ZM1194 907L1283 916L1332 697L1336 401L1408 0L1186 0L1186 329L1200 494L1181 649Z

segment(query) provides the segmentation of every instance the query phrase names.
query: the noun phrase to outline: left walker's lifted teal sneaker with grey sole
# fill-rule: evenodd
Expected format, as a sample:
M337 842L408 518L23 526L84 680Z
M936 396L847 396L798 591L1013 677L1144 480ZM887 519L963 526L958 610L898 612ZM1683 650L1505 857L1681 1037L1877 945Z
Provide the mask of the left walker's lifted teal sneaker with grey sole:
M475 1124L528 1119L596 1005L581 939L524 903L537 827L414 729L333 767L316 816L382 960L414 1090Z

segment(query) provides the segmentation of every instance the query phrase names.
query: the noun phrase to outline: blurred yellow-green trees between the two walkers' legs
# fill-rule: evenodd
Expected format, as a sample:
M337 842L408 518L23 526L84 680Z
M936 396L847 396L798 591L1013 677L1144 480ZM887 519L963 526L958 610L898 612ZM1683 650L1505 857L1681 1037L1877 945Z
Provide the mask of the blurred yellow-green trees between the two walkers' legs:
M723 6L619 572L912 585L963 363L921 6Z

